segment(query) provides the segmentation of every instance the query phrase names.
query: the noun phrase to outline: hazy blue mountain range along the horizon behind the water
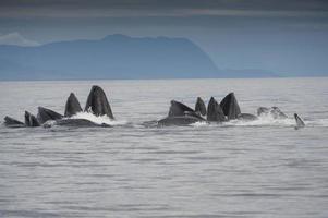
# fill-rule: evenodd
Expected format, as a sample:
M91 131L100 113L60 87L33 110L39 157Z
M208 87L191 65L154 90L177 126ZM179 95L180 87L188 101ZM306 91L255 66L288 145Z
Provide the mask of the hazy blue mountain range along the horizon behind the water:
M219 70L185 38L109 35L35 47L0 46L0 80L269 77L262 70Z

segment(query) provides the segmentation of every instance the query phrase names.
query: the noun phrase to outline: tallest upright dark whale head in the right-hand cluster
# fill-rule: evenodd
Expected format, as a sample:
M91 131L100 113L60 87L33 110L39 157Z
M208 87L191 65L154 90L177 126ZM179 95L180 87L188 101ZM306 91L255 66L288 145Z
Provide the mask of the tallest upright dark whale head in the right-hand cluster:
M234 93L229 93L220 102L220 107L228 120L238 119L241 114L241 109L235 99Z

